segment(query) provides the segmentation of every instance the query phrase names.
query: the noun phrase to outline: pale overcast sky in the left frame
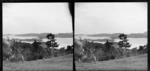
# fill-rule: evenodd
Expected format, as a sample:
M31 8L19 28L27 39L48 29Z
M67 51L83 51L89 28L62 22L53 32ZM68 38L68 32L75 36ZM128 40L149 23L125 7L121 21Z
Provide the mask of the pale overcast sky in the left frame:
M3 34L70 33L68 3L3 3Z

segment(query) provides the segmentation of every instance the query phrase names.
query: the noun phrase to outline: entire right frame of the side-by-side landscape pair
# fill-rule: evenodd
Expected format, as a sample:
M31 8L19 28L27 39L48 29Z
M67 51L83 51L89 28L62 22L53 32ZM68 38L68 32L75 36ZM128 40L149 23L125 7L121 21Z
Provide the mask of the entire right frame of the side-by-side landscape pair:
M75 2L77 71L147 71L147 2Z

